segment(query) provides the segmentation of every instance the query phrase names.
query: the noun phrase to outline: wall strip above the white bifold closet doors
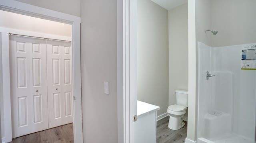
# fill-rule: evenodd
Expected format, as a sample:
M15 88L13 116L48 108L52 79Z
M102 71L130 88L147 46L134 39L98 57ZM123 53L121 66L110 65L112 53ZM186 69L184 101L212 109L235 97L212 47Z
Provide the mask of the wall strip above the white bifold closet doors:
M0 10L0 27L71 37L72 25Z

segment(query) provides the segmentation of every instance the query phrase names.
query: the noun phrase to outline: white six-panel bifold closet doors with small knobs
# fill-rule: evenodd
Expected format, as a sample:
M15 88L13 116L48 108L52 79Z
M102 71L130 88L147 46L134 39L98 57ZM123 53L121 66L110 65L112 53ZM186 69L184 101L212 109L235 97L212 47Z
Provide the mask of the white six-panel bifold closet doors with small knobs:
M73 122L71 42L9 36L12 136Z

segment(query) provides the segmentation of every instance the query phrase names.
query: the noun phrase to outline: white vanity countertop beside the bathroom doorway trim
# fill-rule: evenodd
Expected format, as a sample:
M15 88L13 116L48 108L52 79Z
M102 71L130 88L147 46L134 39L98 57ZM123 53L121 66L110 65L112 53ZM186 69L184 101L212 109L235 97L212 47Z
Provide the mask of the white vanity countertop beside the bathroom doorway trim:
M159 106L137 100L137 118L160 110Z

